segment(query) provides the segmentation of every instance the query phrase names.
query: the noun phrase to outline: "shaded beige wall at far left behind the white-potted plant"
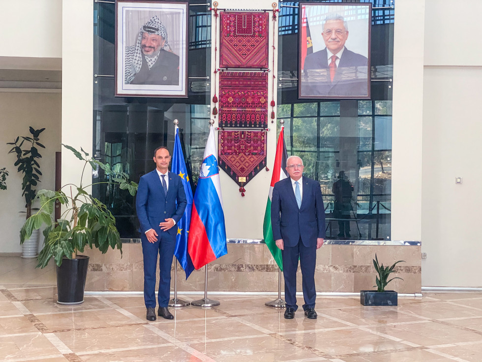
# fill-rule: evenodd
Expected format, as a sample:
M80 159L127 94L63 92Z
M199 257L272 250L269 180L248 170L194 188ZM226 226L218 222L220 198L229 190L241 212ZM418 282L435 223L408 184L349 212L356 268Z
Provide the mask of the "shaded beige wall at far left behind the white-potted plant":
M15 154L7 154L19 135L30 135L29 126L34 129L45 128L40 134L40 143L46 148L39 150L42 158L37 190L55 186L55 152L60 151L60 93L0 93L0 168L10 172L7 190L0 190L1 237L0 253L20 253L19 231L25 221L25 198L22 197L22 174L13 164Z

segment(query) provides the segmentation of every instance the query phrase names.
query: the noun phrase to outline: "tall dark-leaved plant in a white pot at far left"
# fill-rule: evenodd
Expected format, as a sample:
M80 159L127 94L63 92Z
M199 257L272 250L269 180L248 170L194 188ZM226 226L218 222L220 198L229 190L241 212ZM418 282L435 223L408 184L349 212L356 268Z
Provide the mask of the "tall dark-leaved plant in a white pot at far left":
M17 171L22 172L24 177L22 180L22 196L25 197L26 219L28 220L32 214L32 202L35 199L35 187L40 182L42 172L37 159L42 158L38 152L38 148L45 148L39 142L38 136L45 128L34 130L29 128L31 136L18 136L14 142L7 144L14 145L8 153L16 153L17 161L14 166L18 166ZM21 139L22 138L22 139ZM39 231L32 233L30 238L22 245L22 258L36 258L38 247Z

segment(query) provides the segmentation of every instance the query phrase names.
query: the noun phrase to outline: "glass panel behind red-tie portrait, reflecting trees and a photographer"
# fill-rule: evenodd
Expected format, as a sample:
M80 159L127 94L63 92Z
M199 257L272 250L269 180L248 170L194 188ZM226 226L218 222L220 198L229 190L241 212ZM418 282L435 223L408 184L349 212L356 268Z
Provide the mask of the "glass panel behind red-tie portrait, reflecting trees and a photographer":
M364 0L363 2L369 2ZM351 2L351 1L336 1ZM373 7L385 6L372 0ZM295 5L295 3L285 3ZM282 7L278 32L278 118L289 155L320 182L327 239L391 239L394 9L374 9L371 99L298 99L298 8Z

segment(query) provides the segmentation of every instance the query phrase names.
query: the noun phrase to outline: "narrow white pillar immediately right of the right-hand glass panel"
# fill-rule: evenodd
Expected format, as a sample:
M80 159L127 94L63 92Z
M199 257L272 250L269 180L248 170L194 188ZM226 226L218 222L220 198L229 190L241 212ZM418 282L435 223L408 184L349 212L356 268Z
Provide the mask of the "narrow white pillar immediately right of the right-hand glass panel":
M421 240L422 237L421 34L424 11L424 1L404 0L396 3L393 46L392 240ZM413 33L418 36L412 36Z

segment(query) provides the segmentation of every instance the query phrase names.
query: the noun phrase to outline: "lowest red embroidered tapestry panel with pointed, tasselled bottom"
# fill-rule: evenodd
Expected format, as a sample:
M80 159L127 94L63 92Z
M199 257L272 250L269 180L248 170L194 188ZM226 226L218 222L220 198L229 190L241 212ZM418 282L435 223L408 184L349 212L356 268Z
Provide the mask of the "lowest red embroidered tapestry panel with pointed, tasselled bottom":
M219 131L219 167L240 186L266 166L266 132Z

